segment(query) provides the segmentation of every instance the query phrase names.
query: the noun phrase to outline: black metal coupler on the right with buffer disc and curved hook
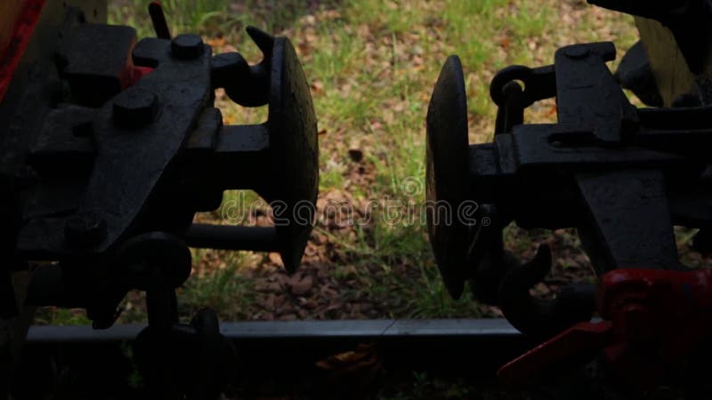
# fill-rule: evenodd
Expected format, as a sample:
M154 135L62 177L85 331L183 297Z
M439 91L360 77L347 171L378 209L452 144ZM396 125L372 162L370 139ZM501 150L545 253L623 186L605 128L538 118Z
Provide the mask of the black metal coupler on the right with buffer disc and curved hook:
M712 108L636 109L605 67L614 54L612 44L576 44L557 51L552 66L504 69L490 86L499 106L493 142L470 146L465 162L457 157L466 148L465 84L454 59L428 110L429 199L450 202L450 209L469 201L478 210L470 230L462 221L429 220L445 282L456 296L465 280L481 300L498 291L505 316L538 338L590 319L595 291L573 285L554 300L532 298L530 287L548 272L551 255L544 246L531 262L516 261L501 240L511 221L577 228L597 274L682 268L673 225L709 226L700 205L710 196L704 172L712 161L705 150ZM522 124L523 108L554 95L557 124ZM453 190L460 195L449 195Z

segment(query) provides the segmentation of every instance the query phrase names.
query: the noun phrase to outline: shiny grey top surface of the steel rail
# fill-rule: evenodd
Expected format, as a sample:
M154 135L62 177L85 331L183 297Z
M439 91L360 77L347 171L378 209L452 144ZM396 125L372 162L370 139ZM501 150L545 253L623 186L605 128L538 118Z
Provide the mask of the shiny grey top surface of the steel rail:
M115 325L107 330L91 326L33 325L27 342L69 343L133 340L145 324ZM377 338L437 338L520 336L502 318L492 319L426 319L426 320L344 320L344 321L279 321L232 322L220 324L220 330L231 340L333 338L368 340Z

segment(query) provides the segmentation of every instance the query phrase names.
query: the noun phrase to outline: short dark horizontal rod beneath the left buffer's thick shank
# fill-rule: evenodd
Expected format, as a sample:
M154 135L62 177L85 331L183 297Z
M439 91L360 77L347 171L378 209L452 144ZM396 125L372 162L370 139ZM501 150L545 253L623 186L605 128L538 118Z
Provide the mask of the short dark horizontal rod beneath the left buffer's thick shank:
M276 252L277 229L273 227L241 227L230 225L193 224L185 236L190 247L220 250L251 250Z

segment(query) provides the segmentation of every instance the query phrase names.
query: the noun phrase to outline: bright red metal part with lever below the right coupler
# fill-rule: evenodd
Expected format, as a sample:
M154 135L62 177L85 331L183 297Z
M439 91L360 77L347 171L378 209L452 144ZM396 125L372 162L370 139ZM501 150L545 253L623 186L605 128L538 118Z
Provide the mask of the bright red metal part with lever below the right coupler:
M499 378L530 380L603 350L621 377L646 386L712 333L712 270L613 270L603 276L597 300L602 322L572 326L505 364Z

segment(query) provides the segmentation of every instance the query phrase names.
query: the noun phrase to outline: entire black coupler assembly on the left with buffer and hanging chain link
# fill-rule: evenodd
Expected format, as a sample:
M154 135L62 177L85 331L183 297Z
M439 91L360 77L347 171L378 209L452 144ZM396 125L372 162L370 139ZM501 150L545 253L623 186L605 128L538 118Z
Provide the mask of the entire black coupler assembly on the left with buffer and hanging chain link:
M41 52L28 52L30 67L0 105L0 246L12 263L0 266L0 314L19 311L5 288L28 262L36 268L25 305L85 308L94 328L115 322L126 292L145 291L150 347L190 353L188 365L161 360L173 360L171 380L195 369L195 380L172 386L176 397L214 398L231 347L212 311L178 324L175 288L191 267L185 239L275 251L288 270L299 266L319 187L309 85L285 37L247 28L264 54L250 66L239 53L213 56L200 36L171 39L158 4L158 38L136 43L134 28L87 18L105 10L89 3L47 6L57 16L43 16L36 32L52 19L51 35L36 39ZM240 105L268 106L268 121L223 126L216 88ZM271 203L273 228L191 228L196 212L240 188Z

